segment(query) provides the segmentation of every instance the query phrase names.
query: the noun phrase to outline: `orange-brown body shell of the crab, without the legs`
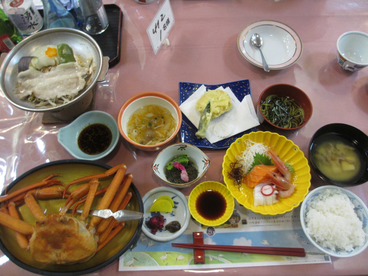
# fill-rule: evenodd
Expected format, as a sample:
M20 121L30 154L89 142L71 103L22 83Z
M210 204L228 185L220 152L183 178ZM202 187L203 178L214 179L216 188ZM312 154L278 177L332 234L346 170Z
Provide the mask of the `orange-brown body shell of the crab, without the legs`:
M36 223L29 247L36 261L63 265L88 261L95 255L97 243L84 223L53 214Z

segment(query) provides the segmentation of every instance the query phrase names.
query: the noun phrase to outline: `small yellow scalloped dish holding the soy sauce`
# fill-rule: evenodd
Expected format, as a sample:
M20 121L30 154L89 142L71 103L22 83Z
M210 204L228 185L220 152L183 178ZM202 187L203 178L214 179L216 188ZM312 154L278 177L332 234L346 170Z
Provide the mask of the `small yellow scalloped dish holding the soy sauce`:
M215 220L208 220L202 217L201 215L199 215L197 208L195 206L198 196L202 194L202 192L209 191L209 190L219 192L220 194L223 195L223 197L226 200L225 213L221 217ZM230 191L226 188L225 185L219 182L216 182L216 181L205 181L205 182L198 184L191 191L189 198L188 198L188 205L189 205L189 212L194 217L194 219L197 220L197 222L202 223L203 225L206 225L206 226L218 226L218 225L225 223L228 219L230 219L234 211L235 203L234 203L233 196L231 195Z

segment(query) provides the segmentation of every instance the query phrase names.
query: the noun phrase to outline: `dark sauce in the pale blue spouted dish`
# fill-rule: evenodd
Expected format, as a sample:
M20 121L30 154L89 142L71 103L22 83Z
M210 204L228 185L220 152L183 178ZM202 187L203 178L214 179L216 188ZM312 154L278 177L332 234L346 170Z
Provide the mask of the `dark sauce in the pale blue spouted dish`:
M87 125L78 136L78 147L82 152L96 155L106 151L113 139L113 134L107 125Z

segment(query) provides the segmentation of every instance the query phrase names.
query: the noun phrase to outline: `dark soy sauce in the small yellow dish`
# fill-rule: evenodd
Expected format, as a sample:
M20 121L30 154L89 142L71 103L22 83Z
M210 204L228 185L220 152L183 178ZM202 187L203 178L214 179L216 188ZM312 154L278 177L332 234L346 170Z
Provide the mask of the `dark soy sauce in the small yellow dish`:
M195 202L195 208L199 215L208 220L222 217L226 211L226 205L224 196L213 190L202 192Z

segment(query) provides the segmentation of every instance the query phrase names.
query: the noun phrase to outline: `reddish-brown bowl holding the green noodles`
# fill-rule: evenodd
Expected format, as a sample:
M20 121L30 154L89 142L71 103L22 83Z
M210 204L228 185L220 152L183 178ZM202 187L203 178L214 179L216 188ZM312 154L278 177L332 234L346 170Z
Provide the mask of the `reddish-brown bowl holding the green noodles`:
M294 102L300 106L304 110L304 120L301 125L298 127L293 128L283 128L279 127L275 124L272 124L269 120L266 119L266 117L262 114L261 111L261 103L270 95L276 95L279 97L287 97L290 99L293 99ZM309 119L312 116L312 103L311 100L308 98L307 94L305 94L303 91L301 91L299 88L290 85L290 84L274 84L269 87L267 87L258 99L258 118L259 122L262 123L262 119L264 120L263 123L270 124L275 128L282 129L282 130L296 130L297 128L303 127L305 124L308 123Z

